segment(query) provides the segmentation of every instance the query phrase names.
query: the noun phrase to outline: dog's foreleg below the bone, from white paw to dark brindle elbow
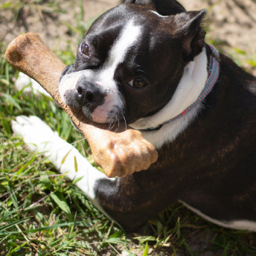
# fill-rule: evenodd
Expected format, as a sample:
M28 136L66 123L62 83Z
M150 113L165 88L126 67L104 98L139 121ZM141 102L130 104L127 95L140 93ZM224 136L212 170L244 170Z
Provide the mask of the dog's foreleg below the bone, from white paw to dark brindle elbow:
M114 218L115 223L126 231L135 231L148 218L167 206L163 206L159 200L161 189L156 185L155 188L149 185L150 180L147 180L144 172L134 173L124 179L107 178L36 116L19 116L12 122L12 127L15 134L22 135L31 151L44 153L68 179L83 177L76 183L77 187L106 217L111 220ZM77 172L74 158L77 161ZM65 161L62 164L63 159ZM148 172L151 170L147 170ZM158 179L157 176L153 180L155 179Z

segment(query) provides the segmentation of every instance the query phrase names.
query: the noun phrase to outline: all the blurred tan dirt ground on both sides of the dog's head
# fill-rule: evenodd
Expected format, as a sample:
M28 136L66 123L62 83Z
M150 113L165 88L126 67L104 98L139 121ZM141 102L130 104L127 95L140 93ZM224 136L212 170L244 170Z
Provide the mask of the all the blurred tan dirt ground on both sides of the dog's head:
M114 7L119 0L84 0L84 20L89 22L103 11ZM7 2L5 0L0 1ZM76 48L77 34L72 33L68 25L76 27L75 17L80 17L80 1L60 0L56 7L47 4L28 4L19 6L17 15L16 2L13 9L0 10L0 41L9 43L16 36L26 32L36 32L47 42L50 48L65 48L67 42ZM51 3L51 0L45 1ZM208 28L208 39L215 39L231 47L256 52L256 1L255 0L180 0L187 10L208 10L205 23ZM60 13L54 12L59 10ZM16 20L15 20L16 18ZM79 19L79 18L77 18ZM67 25L68 24L68 25Z

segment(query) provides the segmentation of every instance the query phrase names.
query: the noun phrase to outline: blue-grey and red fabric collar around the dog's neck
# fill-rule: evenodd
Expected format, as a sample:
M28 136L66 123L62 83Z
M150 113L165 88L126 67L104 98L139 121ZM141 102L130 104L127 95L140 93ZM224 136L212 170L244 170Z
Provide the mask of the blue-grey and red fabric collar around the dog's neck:
M164 124L169 124L171 121L174 121L183 115L186 115L191 109L193 109L196 105L198 105L202 100L205 99L205 97L211 92L211 89L213 89L214 84L217 82L217 79L220 74L220 54L214 48L213 45L209 45L211 48L211 56L210 56L210 65L209 65L209 71L208 71L208 79L206 80L205 87L202 89L201 94L197 98L197 100L191 104L191 106L188 106L187 109L185 109L182 113L179 115L176 115L176 117L171 118L170 120L164 121L164 123L159 124L157 127L149 127L146 129L147 131L152 131L156 129L160 129Z

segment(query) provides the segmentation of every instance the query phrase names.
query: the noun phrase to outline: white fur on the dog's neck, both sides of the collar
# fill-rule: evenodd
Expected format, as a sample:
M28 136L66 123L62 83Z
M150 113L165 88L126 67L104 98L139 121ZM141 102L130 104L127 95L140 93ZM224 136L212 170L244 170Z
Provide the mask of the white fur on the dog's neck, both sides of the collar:
M181 115L191 104L194 105L196 100L198 101L199 96L205 89L205 83L208 82L209 60L210 57L204 48L202 53L185 67L182 79L170 102L155 115L141 118L130 126L134 129L140 129L144 138L157 148L164 143L173 141L193 121L202 106L202 103L198 102L191 111L186 112L186 115ZM176 119L177 116L179 118ZM171 122L168 122L170 120ZM164 122L167 122L167 124L164 124ZM159 129L147 130L159 126Z

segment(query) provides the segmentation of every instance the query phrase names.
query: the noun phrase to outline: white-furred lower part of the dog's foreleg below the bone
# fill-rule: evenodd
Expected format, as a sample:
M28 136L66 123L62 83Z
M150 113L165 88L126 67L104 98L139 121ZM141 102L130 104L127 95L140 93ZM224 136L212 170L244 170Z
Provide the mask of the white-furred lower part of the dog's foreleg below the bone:
M103 173L100 173L87 161L71 144L64 141L57 132L53 132L47 124L36 116L19 116L16 121L12 121L12 128L15 134L23 137L31 151L44 153L54 164L60 173L65 174L68 179L80 179L76 185L88 197L92 203L106 215L108 214L100 206L95 196L95 185L97 180L109 180ZM63 160L65 161L63 162ZM76 160L74 160L76 159ZM77 172L74 161L77 161ZM62 164L63 162L63 164ZM109 217L111 219L111 217Z

